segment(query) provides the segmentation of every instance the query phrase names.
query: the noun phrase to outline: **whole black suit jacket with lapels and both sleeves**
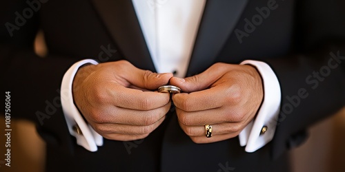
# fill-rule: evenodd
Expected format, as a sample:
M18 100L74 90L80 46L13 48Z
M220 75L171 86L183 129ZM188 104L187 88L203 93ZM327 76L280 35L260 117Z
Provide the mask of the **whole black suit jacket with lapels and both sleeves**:
M39 4L38 12L26 14L20 26L16 12L23 15L33 8L19 0L1 6L1 90L11 92L12 118L37 122L47 142L47 171L288 171L286 150L306 138L306 127L344 107L344 1L208 0L188 76L217 62L266 61L282 87L273 141L254 153L246 153L238 138L195 144L180 129L172 108L148 138L105 139L99 151L88 152L68 133L59 102L68 67L83 58L102 63L125 59L152 71L155 67L131 1ZM268 6L274 9L259 12ZM17 25L12 36L6 23ZM45 58L32 50L39 29L48 45ZM308 96L297 101L301 88Z

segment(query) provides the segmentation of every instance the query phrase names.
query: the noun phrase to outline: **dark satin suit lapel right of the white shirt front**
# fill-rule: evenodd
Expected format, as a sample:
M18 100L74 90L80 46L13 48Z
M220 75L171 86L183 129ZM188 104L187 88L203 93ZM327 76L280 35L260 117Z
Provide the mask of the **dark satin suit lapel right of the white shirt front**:
M206 2L187 76L203 72L215 62L247 2L248 0Z

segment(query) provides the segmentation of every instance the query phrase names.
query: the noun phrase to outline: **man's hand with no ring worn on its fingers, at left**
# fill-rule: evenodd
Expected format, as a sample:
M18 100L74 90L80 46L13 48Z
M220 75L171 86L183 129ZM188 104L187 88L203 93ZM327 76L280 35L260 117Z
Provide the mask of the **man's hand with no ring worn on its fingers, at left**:
M172 74L138 69L128 61L81 67L73 80L73 98L97 133L110 140L146 138L170 109L169 94L152 92Z

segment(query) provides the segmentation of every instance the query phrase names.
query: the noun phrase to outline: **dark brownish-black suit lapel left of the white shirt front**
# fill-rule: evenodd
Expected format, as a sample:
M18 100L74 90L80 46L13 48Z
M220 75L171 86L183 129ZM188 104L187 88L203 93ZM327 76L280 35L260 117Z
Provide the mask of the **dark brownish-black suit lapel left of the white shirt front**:
M132 1L91 1L124 58L136 67L155 72Z

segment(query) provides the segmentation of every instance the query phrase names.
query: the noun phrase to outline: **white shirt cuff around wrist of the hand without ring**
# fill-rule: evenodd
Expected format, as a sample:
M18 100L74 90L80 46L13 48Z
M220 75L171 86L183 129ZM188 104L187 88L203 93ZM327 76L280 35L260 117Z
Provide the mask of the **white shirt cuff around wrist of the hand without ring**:
M72 95L72 83L75 74L77 74L79 67L86 63L92 63L93 65L98 64L97 61L91 59L79 61L72 65L63 76L61 83L61 105L68 125L68 130L72 136L77 138L77 144L88 149L88 151L97 151L97 146L103 145L103 137L83 120L83 117L75 106ZM77 133L73 127L79 127L81 133Z

